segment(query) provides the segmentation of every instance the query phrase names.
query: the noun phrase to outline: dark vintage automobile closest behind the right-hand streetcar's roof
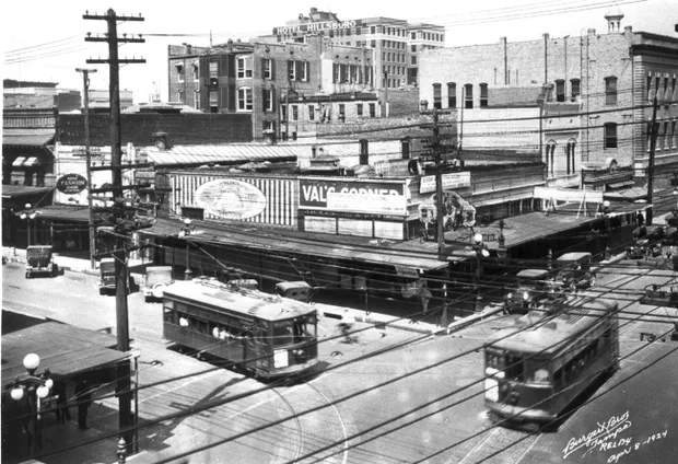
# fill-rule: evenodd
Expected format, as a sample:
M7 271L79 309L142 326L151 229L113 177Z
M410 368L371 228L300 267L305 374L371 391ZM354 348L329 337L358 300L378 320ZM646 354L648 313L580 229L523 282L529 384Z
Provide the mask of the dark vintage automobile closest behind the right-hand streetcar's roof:
M549 269L523 269L516 277L516 286L506 293L504 309L507 313L527 314L550 298L554 291Z

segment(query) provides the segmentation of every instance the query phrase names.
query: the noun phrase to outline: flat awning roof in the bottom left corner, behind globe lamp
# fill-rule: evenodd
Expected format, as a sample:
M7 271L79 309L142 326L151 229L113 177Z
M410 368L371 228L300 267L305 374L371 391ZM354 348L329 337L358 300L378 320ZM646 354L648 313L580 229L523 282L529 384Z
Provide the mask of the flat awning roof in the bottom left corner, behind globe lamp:
M39 369L68 376L129 358L117 351L116 338L57 322L37 324L2 335L2 383L12 383L25 374L23 358L30 352L40 357ZM4 391L5 388L3 388Z

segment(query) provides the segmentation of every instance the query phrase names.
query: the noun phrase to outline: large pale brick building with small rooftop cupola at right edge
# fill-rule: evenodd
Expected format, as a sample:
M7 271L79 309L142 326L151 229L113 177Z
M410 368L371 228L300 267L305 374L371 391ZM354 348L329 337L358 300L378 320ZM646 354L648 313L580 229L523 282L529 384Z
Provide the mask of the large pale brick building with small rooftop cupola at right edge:
M556 182L609 159L646 176L656 95L659 187L678 167L678 39L631 26L622 31L622 18L618 11L606 15L607 34L543 34L519 43L502 37L498 44L426 50L420 57L421 97L465 112L457 118L465 132L493 107L538 106L533 126L541 136L547 178Z

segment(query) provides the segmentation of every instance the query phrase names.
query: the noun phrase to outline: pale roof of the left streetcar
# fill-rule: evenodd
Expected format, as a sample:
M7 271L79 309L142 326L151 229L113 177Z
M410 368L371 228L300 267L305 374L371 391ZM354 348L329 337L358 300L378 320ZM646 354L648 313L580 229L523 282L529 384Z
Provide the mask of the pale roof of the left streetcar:
M219 281L177 281L164 288L163 297L246 314L265 321L281 321L316 312L312 305L297 300L258 290L232 289Z

